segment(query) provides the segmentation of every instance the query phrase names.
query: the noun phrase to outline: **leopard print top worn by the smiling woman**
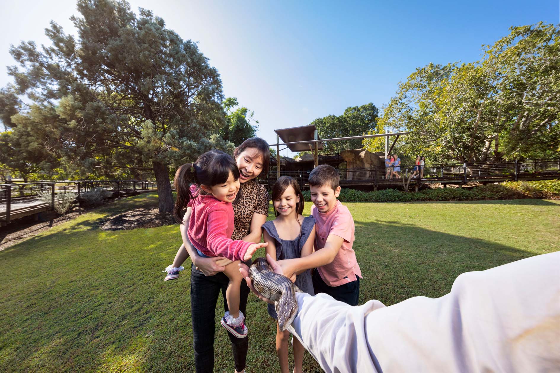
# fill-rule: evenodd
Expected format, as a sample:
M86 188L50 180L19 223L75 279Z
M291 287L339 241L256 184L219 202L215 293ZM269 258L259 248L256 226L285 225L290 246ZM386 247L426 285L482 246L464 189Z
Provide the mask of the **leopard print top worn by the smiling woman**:
M234 233L231 239L244 239L249 234L253 214L268 216L268 191L253 180L241 183L241 197L234 204Z

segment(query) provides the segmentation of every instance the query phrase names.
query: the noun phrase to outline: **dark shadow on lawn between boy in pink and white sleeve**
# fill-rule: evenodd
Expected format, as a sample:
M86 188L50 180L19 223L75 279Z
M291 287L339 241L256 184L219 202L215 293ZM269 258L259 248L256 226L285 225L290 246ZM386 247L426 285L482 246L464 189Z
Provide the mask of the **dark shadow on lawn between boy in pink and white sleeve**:
M389 305L412 296L437 298L449 292L461 273L544 253L399 221L354 223L354 250L364 277L360 303L378 299Z

